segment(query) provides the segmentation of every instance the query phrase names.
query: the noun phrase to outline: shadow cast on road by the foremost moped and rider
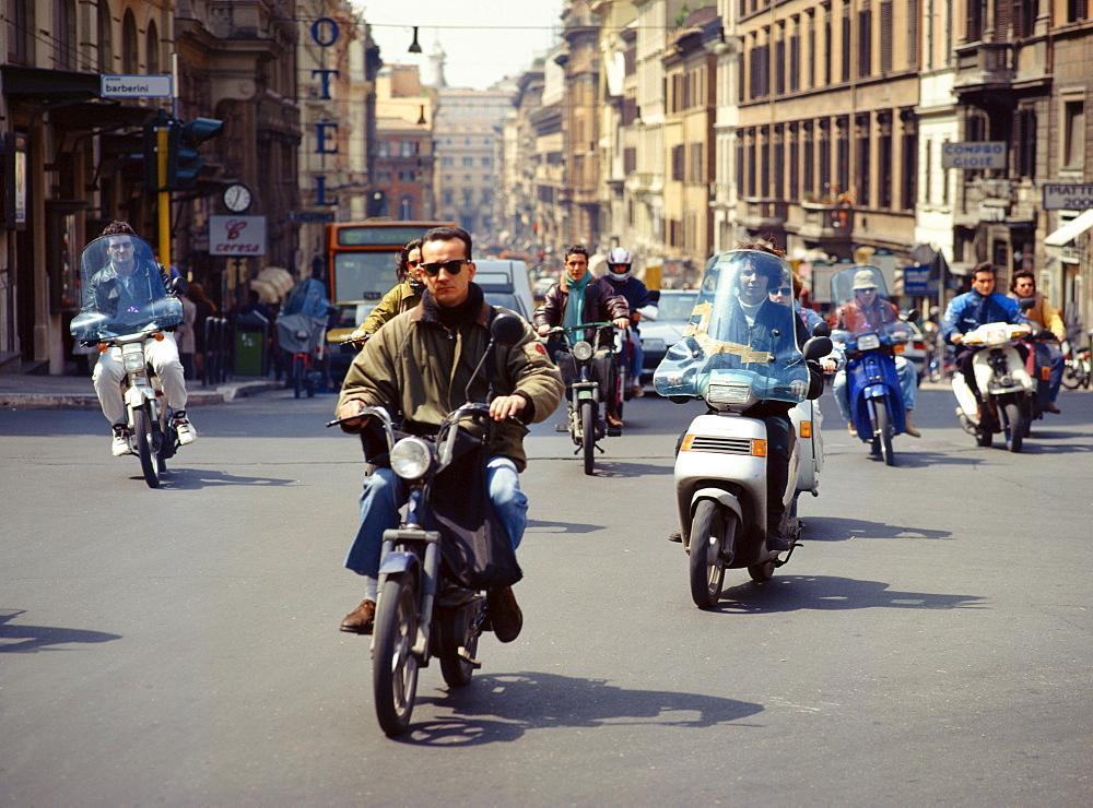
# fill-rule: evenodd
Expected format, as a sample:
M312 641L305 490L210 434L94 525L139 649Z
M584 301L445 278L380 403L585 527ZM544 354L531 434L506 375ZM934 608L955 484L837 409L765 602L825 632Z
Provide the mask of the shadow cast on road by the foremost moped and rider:
M762 704L734 699L528 672L475 676L470 687L420 701L448 709L453 717L415 724L400 740L439 747L510 741L529 729L551 727L709 727L763 711Z

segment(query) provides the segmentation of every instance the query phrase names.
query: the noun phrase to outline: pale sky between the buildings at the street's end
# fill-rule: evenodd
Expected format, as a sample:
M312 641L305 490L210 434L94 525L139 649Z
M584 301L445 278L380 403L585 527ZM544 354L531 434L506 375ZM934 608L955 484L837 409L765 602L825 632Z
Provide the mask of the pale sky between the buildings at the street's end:
M449 87L486 90L517 76L559 40L564 0L354 0L372 25L385 63L418 64L424 71L433 43L447 58ZM419 26L421 54L407 48ZM427 74L427 73L426 73Z

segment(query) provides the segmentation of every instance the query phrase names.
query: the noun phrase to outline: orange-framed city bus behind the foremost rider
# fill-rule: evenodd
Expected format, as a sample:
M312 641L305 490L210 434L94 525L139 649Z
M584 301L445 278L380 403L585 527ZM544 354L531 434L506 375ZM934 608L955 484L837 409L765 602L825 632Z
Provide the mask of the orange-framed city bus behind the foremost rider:
M331 300L378 302L395 286L399 249L446 222L337 222L327 225Z

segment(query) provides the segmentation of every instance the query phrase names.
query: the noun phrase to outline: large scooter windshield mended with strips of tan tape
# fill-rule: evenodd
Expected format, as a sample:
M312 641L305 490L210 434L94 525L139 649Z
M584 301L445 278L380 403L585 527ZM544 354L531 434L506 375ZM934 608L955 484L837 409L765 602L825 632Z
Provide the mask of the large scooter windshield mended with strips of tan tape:
M654 375L657 392L709 401L712 385L729 385L747 387L761 401L803 401L809 372L797 316L771 298L791 276L786 261L759 250L709 259L683 337Z

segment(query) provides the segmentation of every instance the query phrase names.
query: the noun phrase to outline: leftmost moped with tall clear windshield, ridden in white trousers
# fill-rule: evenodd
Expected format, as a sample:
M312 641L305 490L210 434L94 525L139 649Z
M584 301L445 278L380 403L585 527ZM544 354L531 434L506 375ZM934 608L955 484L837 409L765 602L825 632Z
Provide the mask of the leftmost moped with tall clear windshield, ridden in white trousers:
M122 294L109 254L111 240L129 239L136 261L133 289ZM163 340L164 330L183 321L183 305L164 287L152 248L137 236L97 238L80 258L81 311L70 330L85 344L98 344L105 353L119 348L126 376L122 401L129 427L130 450L140 458L144 482L152 488L178 448L169 407L152 366L145 361L144 345Z

